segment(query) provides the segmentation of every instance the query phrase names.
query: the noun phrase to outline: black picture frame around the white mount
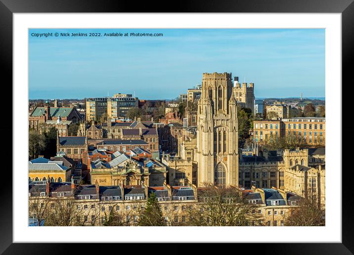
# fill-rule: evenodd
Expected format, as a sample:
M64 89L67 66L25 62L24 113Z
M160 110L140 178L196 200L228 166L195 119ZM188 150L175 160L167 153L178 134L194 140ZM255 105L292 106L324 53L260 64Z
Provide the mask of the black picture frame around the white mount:
M186 1L149 1L136 3L135 1L122 0L0 0L0 65L1 81L3 87L10 88L12 85L12 14L13 13L44 13L44 12L249 12L249 13L342 13L342 80L343 84L354 84L353 65L354 59L354 0L193 0ZM7 82L5 82L7 81ZM341 84L333 85L336 88L344 87ZM12 97L10 97L9 93ZM15 92L14 92L15 93ZM342 92L342 102L350 102L350 93ZM7 107L12 105L12 99L15 94L9 89L6 98L2 102L7 103ZM6 102L11 101L11 102ZM3 104L4 105L4 104ZM350 116L349 108L342 107L342 116ZM6 120L2 122L0 130L3 136L12 133L12 121L8 118L9 114L4 115ZM343 134L352 131L350 127L342 126ZM16 134L13 134L16 135ZM9 153L12 141L10 136L3 143L2 150ZM338 137L342 139L342 137ZM337 169L330 169L340 173L342 158L350 158L350 150L342 150L342 155L338 155L339 163ZM12 154L14 158L16 155ZM345 162L342 168L345 168ZM8 166L7 166L8 167ZM7 168L8 169L8 168ZM7 170L6 169L6 170ZM3 169L4 170L4 169ZM350 191L352 183L350 168L348 171L342 171L342 187L338 187L338 192L342 191L342 204L353 203L353 195ZM3 180L13 180L10 171L2 172ZM347 177L347 178L346 178ZM13 243L12 241L12 182L2 181L0 185L2 204L0 217L0 252L3 254L62 254L70 251L67 244L29 244ZM329 205L330 206L330 205ZM354 253L354 235L353 235L353 217L351 206L342 207L342 243L306 243L306 244L288 244L288 243L263 243L263 244L237 244L233 249L246 248L244 252L262 253L262 254L353 254ZM68 233L69 234L69 233ZM172 234L172 233L171 233ZM40 237L39 237L40 238ZM289 237L291 239L291 237ZM133 239L132 239L133 240ZM137 240L142 240L141 237ZM75 237L73 237L75 242ZM158 242L158 240L156 240ZM276 242L276 238L274 239ZM290 242L289 242L290 243ZM92 246L97 244L72 244L75 250L80 253L92 251ZM113 244L114 245L114 244ZM135 251L142 251L146 244L134 244ZM243 246L243 247L241 247ZM140 248L141 247L141 248ZM210 244L200 246L199 251L210 249ZM105 248L107 249L107 248ZM109 249L109 248L108 248ZM170 253L169 250L156 250L155 253ZM174 250L174 249L172 249ZM224 249L222 249L224 250ZM119 250L123 252L124 250ZM192 252L192 250L188 251ZM226 251L226 250L224 250ZM107 251L108 252L108 251ZM187 249L183 249L187 252ZM247 253L248 253L247 252ZM176 253L173 252L173 253Z

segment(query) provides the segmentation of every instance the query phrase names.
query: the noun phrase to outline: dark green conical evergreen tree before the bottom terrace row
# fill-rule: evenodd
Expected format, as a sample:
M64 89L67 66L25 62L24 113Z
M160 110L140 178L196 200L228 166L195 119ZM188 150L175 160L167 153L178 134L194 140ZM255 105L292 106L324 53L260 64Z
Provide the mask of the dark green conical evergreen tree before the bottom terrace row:
M151 192L147 204L142 211L140 226L165 226L160 204L155 193Z

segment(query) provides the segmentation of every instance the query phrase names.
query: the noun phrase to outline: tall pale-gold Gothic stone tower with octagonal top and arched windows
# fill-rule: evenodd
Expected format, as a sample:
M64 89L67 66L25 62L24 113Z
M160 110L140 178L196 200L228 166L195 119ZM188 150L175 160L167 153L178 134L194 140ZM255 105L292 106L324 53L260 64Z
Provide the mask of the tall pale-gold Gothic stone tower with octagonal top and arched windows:
M197 161L198 186L238 186L237 107L231 73L203 73Z

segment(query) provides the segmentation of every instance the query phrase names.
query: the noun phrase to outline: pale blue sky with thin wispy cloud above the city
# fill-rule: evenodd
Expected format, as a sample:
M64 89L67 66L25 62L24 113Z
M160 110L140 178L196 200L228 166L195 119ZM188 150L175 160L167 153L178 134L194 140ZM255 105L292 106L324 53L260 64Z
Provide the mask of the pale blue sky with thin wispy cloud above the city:
M163 33L47 37L32 33ZM29 98L173 99L204 72L232 72L256 98L325 97L324 29L30 29Z

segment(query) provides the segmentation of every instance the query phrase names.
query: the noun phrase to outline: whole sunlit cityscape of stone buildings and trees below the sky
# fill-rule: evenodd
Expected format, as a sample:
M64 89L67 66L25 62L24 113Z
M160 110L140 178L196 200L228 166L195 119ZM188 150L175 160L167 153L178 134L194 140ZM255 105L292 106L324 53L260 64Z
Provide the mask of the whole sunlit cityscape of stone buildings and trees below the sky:
M29 226L324 226L323 95L198 76L172 99L30 99Z

